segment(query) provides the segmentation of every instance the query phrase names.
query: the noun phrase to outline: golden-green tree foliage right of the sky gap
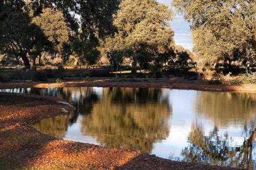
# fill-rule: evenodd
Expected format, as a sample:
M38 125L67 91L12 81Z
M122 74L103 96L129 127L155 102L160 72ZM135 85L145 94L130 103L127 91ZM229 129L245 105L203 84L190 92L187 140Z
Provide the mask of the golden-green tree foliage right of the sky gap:
M190 22L194 51L204 63L255 64L255 1L174 0L173 5Z

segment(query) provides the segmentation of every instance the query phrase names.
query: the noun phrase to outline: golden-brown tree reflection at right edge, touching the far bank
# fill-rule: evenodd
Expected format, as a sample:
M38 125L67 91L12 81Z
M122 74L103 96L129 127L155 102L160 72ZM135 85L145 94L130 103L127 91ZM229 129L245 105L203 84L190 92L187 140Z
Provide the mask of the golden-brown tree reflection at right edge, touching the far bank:
M254 127L255 93L200 92L196 108L198 115L214 121L216 126ZM252 124L252 125L248 125Z

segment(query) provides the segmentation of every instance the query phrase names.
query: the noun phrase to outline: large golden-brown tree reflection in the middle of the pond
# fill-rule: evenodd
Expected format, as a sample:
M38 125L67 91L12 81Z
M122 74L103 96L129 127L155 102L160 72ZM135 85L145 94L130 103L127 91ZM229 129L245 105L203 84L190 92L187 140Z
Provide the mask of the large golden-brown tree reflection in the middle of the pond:
M169 134L169 113L161 89L105 88L83 117L81 132L106 147L151 152Z

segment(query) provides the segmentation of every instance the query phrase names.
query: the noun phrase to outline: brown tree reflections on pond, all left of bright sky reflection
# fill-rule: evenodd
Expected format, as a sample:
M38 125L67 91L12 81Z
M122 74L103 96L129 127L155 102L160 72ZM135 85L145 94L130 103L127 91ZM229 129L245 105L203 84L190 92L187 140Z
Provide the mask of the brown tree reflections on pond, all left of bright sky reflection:
M171 111L162 89L102 88L96 93L93 87L70 87L41 90L40 94L58 96L77 108L72 116L60 115L35 124L55 137L63 137L79 115L81 133L95 137L105 147L151 152L154 142L169 134Z

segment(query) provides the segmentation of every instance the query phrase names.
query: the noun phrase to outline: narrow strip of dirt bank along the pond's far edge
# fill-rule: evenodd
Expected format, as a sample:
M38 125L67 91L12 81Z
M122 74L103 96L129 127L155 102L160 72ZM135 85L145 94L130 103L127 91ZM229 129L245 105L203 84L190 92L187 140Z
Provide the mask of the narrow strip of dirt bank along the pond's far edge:
M0 89L6 88L48 88L48 87L74 87L74 86L95 86L95 87L157 87L172 89L191 89L204 91L241 91L256 92L256 84L243 85L210 85L205 82L188 81L180 78L173 79L94 79L94 80L77 80L65 81L60 84L56 83L2 83Z

